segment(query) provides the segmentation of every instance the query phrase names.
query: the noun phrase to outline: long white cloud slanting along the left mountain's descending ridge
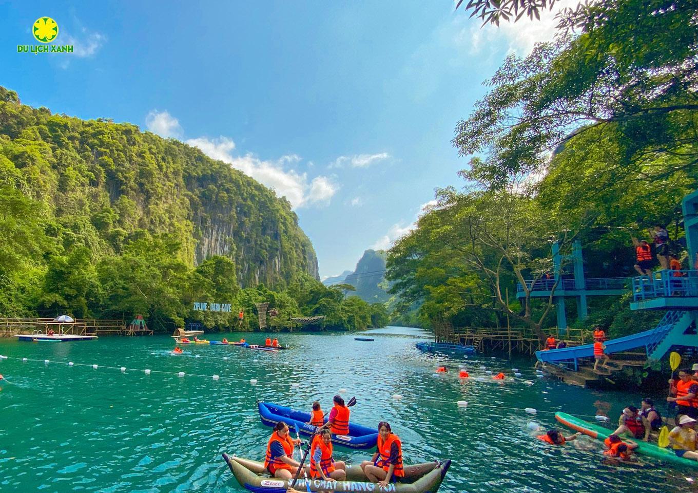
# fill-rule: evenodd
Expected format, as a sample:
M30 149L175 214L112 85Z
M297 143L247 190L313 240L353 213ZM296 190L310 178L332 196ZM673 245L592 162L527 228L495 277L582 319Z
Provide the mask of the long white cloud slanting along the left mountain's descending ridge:
M318 176L308 182L306 173L285 170L284 165L302 160L295 154L281 156L276 161L264 161L253 154L234 156L235 142L227 137L209 139L205 137L189 139L188 145L198 147L212 159L230 164L233 168L253 177L258 182L273 189L279 197L285 197L294 209L308 205L326 205L339 190L339 185L331 178Z

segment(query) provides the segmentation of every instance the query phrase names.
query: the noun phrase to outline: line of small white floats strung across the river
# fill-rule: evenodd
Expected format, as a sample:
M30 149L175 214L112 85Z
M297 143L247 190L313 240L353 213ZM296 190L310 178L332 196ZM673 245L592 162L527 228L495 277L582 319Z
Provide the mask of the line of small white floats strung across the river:
M163 375L173 375L177 376L178 378L184 378L185 376L194 376L196 378L207 378L210 380L218 381L218 380L228 380L228 381L235 381L235 382L248 382L251 385L256 385L257 383L267 383L267 384L273 384L273 385L281 385L278 381L260 381L257 378L235 378L232 376L221 376L221 375L205 375L205 374L196 374L196 373L186 373L184 371L164 371L164 370L155 370L155 369L150 369L150 368L128 368L128 367L113 367L109 365L96 365L92 363L77 363L73 361L55 361L55 360L38 360L34 358L15 358L13 356L5 356L5 355L0 355L0 360L17 360L17 361L22 361L22 362L43 362L44 365L50 365L50 364L55 364L55 365L66 365L68 367L92 367L93 369L113 369L113 370L118 370L121 373L128 373L128 372L139 372L145 375L150 375L150 374L163 374ZM524 381L526 383L529 383L528 381ZM530 384L533 384L533 382L530 382ZM284 384L285 385L285 384ZM300 384L297 382L291 383L290 384L291 388L299 388ZM345 388L339 389L339 393L346 392ZM394 401L401 401L403 399L402 395L399 394L394 394L392 395L392 399ZM438 402L438 403L443 403L443 404L453 404L453 401L447 401L445 399L436 399L433 397L414 397L410 396L410 399L413 399L415 401L423 401L423 402ZM467 408L467 407L480 407L480 408L487 408L487 409L506 409L507 411L523 411L524 413L528 414L537 414L537 413L547 413L547 414L555 414L557 411L540 411L537 409L534 409L532 407L526 407L526 408L517 408L517 407L505 407L505 406L498 406L498 405L493 405L493 404L482 404L480 402L474 403L474 404L469 404L467 401L459 400L456 401L456 406L459 408ZM602 415L589 415L589 414L574 414L575 416L579 418L594 418L597 421L607 421L609 418L607 416L602 416Z

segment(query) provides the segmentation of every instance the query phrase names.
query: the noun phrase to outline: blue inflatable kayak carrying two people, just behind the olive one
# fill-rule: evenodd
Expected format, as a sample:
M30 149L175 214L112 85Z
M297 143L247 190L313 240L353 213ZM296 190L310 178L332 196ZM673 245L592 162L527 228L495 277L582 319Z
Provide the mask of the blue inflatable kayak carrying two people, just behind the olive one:
M308 424L310 422L310 413L295 411L290 407L261 401L257 402L257 408L264 425L274 426L279 421L283 421L290 429L294 429L295 425L298 425L300 432L308 436L315 433L317 429L317 427ZM325 419L325 422L327 422L327 419ZM332 443L335 445L355 449L375 447L377 439L378 430L376 428L356 425L352 422L349 423L349 433L347 435L332 435Z

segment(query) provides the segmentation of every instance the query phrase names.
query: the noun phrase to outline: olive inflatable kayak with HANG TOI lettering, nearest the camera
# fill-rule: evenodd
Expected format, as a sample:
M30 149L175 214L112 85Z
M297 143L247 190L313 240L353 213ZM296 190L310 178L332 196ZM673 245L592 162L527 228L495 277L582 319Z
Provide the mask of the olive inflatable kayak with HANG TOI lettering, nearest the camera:
M223 454L223 460L240 483L240 486L255 493L285 492L292 479L270 478L262 462L242 457ZM380 487L378 483L369 483L361 466L347 466L346 481L325 481L321 479L299 478L295 490L311 492L385 492L385 493L436 493L446 476L451 461L425 462L413 466L404 466L405 476L400 483L390 483Z

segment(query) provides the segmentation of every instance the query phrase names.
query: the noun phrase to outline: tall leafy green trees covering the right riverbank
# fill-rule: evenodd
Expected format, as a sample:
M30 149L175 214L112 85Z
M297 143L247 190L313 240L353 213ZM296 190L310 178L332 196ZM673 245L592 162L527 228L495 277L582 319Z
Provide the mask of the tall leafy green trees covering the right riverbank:
M507 20L484 12L473 10ZM555 325L552 297L514 293L553 273L554 242L563 255L581 242L588 278L633 276L631 237L651 242L648 229L662 224L692 265L681 199L698 188L697 20L695 2L580 4L560 15L554 42L507 57L456 126L452 143L470 156L463 189L439 189L389 251L392 292L406 306L423 301L424 325L445 317L493 327L508 316L542 336ZM657 316L631 312L627 297L592 303L577 325L600 323L611 337L651 328Z

